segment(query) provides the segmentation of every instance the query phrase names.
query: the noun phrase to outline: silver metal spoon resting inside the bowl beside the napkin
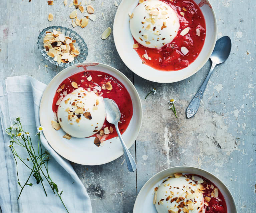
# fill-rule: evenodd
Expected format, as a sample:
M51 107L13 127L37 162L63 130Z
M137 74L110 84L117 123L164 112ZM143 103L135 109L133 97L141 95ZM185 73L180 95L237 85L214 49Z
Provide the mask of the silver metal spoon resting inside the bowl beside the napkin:
M112 99L109 99L109 98L104 98L104 103L105 103L105 111L107 114L106 119L109 123L115 125L117 135L119 136L119 139L120 139L122 147L123 147L123 152L125 155L128 170L130 172L134 172L137 169L136 162L135 162L133 156L131 155L131 153L129 152L129 149L126 147L126 145L122 139L121 133L119 131L119 128L118 128L118 121L120 120L120 117L121 117L121 113L118 109L118 106Z

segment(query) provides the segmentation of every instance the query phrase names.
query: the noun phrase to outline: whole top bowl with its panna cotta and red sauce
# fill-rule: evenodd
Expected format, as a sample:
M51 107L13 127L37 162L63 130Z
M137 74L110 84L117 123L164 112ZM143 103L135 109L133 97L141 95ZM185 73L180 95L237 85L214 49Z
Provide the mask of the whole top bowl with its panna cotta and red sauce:
M217 21L208 1L122 1L113 36L119 56L133 72L171 83L188 78L208 61Z

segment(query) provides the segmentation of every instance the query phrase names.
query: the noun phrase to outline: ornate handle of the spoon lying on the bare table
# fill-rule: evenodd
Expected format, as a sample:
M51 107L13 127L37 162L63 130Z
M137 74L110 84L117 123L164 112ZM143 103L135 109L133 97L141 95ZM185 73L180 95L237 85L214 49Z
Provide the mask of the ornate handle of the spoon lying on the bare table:
M191 118L192 116L194 116L197 113L197 110L199 108L200 102L203 98L203 94L205 91L205 88L207 86L207 83L213 73L213 69L216 66L215 63L212 63L212 67L208 73L208 75L206 76L204 83L202 84L202 86L200 87L200 89L198 90L197 94L195 95L195 97L192 99L192 101L190 102L188 108L187 108L187 117Z

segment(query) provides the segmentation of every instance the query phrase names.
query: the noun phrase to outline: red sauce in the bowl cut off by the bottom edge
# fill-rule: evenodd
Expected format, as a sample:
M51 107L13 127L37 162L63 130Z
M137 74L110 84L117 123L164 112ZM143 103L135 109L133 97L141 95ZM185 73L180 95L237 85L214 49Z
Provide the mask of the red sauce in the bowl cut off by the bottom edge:
M190 175L186 175L188 178L191 179L191 177L193 176L192 174ZM211 188L211 185L214 186L214 188L217 188L210 180L206 179L205 177L202 177L200 175L196 175L198 177L201 177L204 180L204 183L202 183L202 185L205 187L204 190L204 197L210 197L211 200L209 202L207 202L205 200L205 202L207 202L209 204L209 206L205 206L206 207L206 211L205 213L227 213L227 205L225 202L225 199L223 197L223 195L221 194L220 190L219 190L219 195L218 197L214 198L211 197L211 193L213 191L213 187Z

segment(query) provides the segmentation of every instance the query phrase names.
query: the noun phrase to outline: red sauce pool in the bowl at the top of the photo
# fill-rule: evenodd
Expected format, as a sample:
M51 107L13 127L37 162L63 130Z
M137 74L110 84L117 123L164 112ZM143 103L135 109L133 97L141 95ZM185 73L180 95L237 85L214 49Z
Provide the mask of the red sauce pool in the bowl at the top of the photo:
M166 44L160 49L153 49L144 47L139 44L139 48L135 50L139 54L143 63L157 70L173 71L183 69L191 64L198 57L201 52L206 36L206 24L203 13L199 6L193 1L182 0L161 0L170 5L176 12L180 20L180 29L177 36L171 43ZM185 11L185 10L187 11ZM180 15L184 12L184 17ZM180 33L186 27L190 27L190 31L185 36L181 36ZM196 29L200 30L200 37L196 35ZM134 39L135 43L138 43ZM181 47L186 47L189 53L184 56L181 53ZM152 60L145 60L142 55L147 54Z

